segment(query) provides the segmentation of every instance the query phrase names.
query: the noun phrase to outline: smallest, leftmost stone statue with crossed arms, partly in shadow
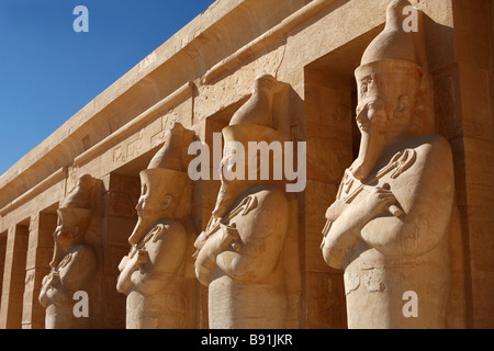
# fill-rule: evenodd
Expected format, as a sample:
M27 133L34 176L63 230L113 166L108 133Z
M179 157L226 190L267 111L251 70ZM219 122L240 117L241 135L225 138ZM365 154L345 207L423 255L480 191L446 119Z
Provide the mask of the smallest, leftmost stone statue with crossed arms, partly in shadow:
M93 204L100 195L101 181L83 174L57 210L52 271L43 279L38 298L46 308L46 329L92 327L91 292L98 258L86 234L94 215Z

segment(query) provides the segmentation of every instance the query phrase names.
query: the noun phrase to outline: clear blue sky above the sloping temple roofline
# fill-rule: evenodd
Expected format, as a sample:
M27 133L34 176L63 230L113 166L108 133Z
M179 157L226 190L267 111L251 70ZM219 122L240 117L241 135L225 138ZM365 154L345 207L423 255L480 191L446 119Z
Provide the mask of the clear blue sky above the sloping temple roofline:
M0 176L213 2L0 0Z

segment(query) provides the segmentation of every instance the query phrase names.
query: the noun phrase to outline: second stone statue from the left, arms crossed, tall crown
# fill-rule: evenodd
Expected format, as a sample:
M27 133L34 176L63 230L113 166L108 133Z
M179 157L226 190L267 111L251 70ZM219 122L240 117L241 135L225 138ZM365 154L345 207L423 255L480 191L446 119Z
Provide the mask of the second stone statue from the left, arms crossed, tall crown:
M184 219L190 215L192 183L183 171L182 149L192 138L193 132L175 123L165 145L139 173L138 220L128 238L132 248L119 264L116 284L127 295L127 329L190 327L183 285L187 247L193 242Z

